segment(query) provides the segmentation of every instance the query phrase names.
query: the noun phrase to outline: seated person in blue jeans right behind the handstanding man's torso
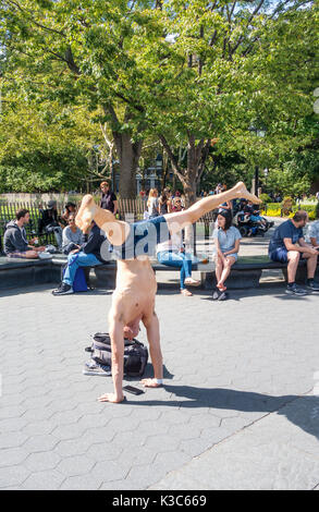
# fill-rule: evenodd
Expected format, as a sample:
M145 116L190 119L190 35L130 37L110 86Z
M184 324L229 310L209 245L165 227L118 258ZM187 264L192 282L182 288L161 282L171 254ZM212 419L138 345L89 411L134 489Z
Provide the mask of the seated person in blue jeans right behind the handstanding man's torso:
M186 284L198 287L200 282L192 278L192 256L185 253L181 233L173 234L167 242L158 244L157 259L168 267L181 269L181 293L184 296L192 296L193 293L186 289Z

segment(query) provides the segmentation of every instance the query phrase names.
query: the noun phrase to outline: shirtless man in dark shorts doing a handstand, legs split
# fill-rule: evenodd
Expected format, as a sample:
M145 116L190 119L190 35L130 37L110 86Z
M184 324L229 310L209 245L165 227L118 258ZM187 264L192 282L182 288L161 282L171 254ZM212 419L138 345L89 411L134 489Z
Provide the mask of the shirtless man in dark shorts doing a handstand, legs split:
M119 403L124 400L122 390L124 333L125 337L128 334L127 338L136 336L140 320L146 328L154 366L154 378L144 379L142 383L148 388L162 385L159 320L155 313L157 282L149 261L149 255L152 254L156 245L169 240L172 234L182 231L191 223L195 223L221 203L242 197L257 204L261 203L247 191L244 183L240 182L218 196L200 199L188 209L128 224L116 220L110 211L99 208L90 195L84 196L76 216L76 224L85 232L94 219L97 225L106 232L118 259L116 287L109 313L114 393L103 394L99 398L100 402ZM142 247L145 247L144 239L148 231L152 231L152 236L147 239L148 247L145 253Z

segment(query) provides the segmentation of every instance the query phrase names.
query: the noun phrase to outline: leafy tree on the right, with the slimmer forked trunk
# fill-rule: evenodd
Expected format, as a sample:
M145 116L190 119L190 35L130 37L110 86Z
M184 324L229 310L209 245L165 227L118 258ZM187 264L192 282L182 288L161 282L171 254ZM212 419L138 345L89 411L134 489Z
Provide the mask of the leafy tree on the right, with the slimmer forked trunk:
M212 145L221 156L235 151L265 167L277 145L290 146L293 126L312 109L317 11L312 2L262 0L172 0L163 9L174 59L154 120L191 204ZM251 122L267 126L266 139L248 133ZM185 167L176 160L180 144L187 147Z

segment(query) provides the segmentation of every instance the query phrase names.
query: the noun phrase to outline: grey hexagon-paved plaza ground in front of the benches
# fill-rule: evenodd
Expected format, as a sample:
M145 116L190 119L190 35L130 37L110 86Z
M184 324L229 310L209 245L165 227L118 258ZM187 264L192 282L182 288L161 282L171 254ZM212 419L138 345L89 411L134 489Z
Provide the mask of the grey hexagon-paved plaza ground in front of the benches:
M97 402L111 378L82 374L111 291L1 293L1 489L319 489L319 294L272 278L216 303L171 280L165 386L119 405Z

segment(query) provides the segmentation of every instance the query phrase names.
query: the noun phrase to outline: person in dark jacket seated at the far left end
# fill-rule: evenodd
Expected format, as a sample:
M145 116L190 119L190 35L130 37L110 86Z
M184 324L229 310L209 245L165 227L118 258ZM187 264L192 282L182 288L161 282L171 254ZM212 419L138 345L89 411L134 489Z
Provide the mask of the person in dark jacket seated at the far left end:
M38 258L46 247L34 247L26 237L25 224L29 222L29 211L19 210L15 214L16 220L8 223L3 239L4 253L11 258ZM30 242L33 243L35 239Z

